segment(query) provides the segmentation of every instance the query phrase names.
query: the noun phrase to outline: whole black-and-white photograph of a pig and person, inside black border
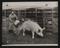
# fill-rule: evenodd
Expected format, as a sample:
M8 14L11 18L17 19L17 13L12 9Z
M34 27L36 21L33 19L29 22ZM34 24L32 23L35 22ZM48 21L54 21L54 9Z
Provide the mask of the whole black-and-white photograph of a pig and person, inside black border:
M2 2L2 46L58 46L58 1Z

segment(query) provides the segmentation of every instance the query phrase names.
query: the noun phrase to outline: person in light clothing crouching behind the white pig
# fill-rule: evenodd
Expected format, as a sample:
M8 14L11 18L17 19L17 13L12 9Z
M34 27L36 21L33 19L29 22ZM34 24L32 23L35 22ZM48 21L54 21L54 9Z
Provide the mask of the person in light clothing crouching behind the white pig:
M14 31L16 30L16 27L14 26L14 22L18 19L18 17L12 12L9 15L9 31Z

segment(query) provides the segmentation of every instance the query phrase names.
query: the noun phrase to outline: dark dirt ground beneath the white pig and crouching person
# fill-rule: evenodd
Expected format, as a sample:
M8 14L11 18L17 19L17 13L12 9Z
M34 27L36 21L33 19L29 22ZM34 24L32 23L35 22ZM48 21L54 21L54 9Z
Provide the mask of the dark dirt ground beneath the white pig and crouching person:
M35 34L35 38L32 39L32 35L30 32L26 31L26 36L23 37L22 32L19 37L13 33L8 32L8 28L6 28L6 19L3 19L2 22L2 44L57 44L58 43L58 32L55 33L47 33L43 38L37 36Z

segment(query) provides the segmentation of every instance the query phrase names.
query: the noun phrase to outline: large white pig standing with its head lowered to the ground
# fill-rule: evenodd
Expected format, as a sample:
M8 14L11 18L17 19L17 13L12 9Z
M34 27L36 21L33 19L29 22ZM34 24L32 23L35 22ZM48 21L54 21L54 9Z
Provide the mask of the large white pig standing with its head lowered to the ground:
M25 30L32 32L32 39L34 39L34 34L43 37L43 30L44 28L41 28L36 22L33 22L31 20L25 21L20 27L19 30L23 30L23 36L25 36ZM40 31L39 31L40 30Z

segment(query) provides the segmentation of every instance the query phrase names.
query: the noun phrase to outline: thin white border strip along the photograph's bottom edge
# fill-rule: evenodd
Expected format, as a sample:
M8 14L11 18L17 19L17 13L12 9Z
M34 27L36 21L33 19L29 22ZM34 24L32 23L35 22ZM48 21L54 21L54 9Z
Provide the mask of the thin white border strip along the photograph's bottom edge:
M2 46L58 46L58 44L7 44Z

